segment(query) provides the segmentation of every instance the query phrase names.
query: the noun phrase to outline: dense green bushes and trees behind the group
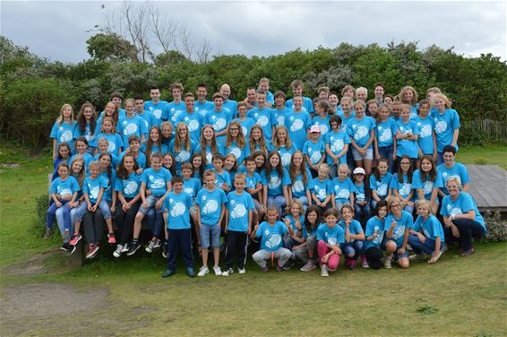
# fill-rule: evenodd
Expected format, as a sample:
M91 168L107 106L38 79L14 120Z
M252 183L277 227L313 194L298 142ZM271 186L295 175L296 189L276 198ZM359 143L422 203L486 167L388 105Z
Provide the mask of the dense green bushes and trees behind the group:
M142 64L129 61L128 45L109 50L99 42L89 40L90 59L65 65L41 59L0 37L0 133L42 146L64 103L71 103L77 112L90 100L101 110L112 91L125 97L142 93L149 99L150 85L164 88L162 99L171 100L167 90L171 82L184 83L185 91L205 82L210 93L228 82L232 99L244 99L246 88L262 77L270 78L271 91L288 95L290 82L301 79L304 94L310 97L321 85L331 91L346 84L365 86L370 98L376 82L384 83L390 94L411 85L419 96L436 86L452 99L462 120L507 117L507 64L491 54L465 57L436 46L420 50L417 43L385 48L342 43L337 48L296 49L269 57L215 56L206 63L189 61L175 51L157 56L156 64ZM470 135L463 137L474 143Z

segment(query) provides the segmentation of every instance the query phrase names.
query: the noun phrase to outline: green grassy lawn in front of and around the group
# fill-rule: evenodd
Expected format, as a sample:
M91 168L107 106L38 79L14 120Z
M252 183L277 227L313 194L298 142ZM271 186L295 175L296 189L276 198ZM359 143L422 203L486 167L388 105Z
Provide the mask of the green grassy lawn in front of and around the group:
M458 160L473 163L480 156L487 164L506 168L506 154L504 146L461 149ZM163 280L165 262L159 254L114 259L112 247L106 245L99 259L69 270L65 255L55 252L57 235L44 241L32 225L34 196L47 191L50 158L44 153L30 157L19 147L0 144L0 163L20 165L2 167L0 173L2 298L7 289L30 284L70 286L78 295L105 289L105 302L93 310L14 316L8 322L26 330L13 333L2 324L2 335L507 334L505 243L479 244L468 258L458 257L454 248L438 264L417 262L407 271L394 267L351 272L340 266L327 279L296 270L262 273L250 259L245 275L210 274L191 280L179 268L176 276ZM49 252L43 263L46 272L8 273L13 264L42 252Z

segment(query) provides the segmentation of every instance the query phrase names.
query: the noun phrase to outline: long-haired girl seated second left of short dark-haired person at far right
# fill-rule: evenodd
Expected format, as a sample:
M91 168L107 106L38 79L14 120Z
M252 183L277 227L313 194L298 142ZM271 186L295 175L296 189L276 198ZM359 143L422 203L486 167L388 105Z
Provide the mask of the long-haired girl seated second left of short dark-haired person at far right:
M398 173L392 175L390 187L392 194L401 200L401 208L410 214L414 212L414 202L412 197L412 161L408 155L400 158L400 167Z

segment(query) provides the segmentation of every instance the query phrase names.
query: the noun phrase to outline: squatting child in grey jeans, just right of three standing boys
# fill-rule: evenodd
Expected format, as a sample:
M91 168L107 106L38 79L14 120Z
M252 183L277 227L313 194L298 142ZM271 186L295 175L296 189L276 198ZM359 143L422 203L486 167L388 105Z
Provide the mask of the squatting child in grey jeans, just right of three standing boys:
M282 266L288 262L292 255L290 250L283 247L283 236L293 235L293 230L290 224L285 224L279 221L279 211L276 206L268 206L267 209L268 221L263 221L261 225L255 225L251 238L261 238L261 249L255 252L252 257L256 264L259 264L262 272L269 272L270 269L267 260L271 258L278 259L276 271L283 271Z

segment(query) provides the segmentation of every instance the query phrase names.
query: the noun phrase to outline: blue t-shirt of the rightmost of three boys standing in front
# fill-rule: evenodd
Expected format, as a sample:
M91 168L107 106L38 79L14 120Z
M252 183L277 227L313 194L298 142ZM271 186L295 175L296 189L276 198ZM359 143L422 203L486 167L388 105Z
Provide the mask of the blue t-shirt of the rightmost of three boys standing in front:
M244 232L248 229L248 212L253 211L252 195L247 192L228 193L228 230Z

